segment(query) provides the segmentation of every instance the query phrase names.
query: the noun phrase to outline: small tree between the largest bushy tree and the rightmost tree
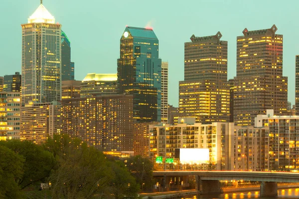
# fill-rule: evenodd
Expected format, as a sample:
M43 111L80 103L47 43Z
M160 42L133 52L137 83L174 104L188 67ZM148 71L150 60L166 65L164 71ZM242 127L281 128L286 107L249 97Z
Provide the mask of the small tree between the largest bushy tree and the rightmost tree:
M120 161L111 162L110 167L114 171L114 178L110 183L110 192L114 198L137 197L137 193L140 191L139 185L124 163Z

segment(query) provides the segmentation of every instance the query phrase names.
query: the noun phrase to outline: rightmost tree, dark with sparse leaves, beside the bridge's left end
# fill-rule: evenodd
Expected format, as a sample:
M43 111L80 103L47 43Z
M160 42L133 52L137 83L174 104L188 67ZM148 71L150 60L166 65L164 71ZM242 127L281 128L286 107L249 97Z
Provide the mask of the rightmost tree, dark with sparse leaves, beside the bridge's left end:
M141 188L150 189L153 184L153 165L148 158L133 156L127 160L127 167Z

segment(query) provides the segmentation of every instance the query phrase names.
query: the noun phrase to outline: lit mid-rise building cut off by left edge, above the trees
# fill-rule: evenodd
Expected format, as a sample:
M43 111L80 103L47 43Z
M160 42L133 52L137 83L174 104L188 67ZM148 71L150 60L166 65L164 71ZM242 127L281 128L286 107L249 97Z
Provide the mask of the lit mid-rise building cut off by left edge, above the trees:
M0 92L0 140L20 138L19 92Z

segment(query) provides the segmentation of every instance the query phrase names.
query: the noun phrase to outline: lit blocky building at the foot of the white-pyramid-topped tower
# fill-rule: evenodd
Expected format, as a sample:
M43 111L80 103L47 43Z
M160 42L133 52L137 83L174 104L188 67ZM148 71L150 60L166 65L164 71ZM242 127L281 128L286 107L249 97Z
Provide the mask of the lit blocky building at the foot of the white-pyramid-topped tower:
M20 139L41 144L62 133L61 104L29 102L21 107L20 120Z

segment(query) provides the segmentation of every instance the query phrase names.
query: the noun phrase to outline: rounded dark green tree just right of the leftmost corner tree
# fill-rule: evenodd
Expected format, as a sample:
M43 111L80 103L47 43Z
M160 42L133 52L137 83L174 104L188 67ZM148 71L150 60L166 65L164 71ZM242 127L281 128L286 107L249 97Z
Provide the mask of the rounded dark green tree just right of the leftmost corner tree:
M16 139L1 141L0 145L6 146L15 154L24 157L25 161L22 166L23 175L17 180L21 190L35 182L44 181L49 177L55 165L55 159L42 146L30 141Z

